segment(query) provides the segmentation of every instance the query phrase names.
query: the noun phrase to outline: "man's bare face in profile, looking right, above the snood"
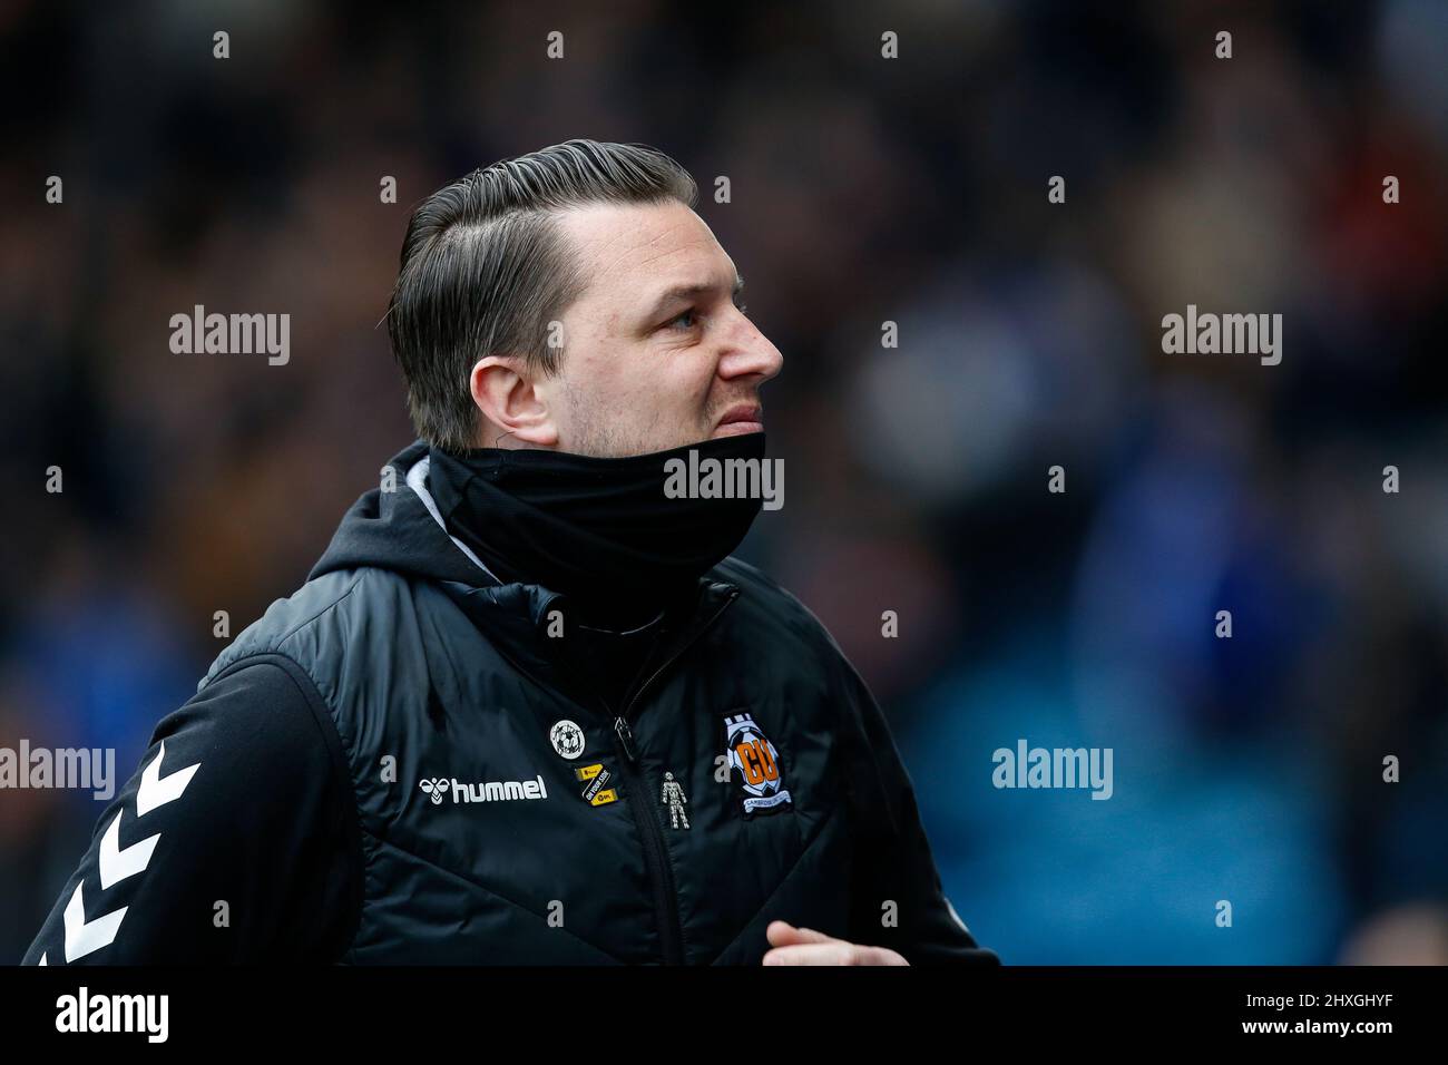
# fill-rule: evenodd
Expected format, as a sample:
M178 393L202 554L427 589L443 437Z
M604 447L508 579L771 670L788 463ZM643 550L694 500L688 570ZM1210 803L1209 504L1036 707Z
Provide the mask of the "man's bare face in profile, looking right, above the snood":
M783 356L740 310L740 278L682 203L591 204L559 217L582 294L557 375L534 383L557 449L618 456L760 432L759 387Z

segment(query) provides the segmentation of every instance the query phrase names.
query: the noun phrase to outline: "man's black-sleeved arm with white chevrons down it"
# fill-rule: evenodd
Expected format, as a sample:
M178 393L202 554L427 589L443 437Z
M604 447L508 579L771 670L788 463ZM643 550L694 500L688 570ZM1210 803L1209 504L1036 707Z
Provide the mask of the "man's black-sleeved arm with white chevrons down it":
M336 961L355 800L310 678L248 658L156 726L25 965Z

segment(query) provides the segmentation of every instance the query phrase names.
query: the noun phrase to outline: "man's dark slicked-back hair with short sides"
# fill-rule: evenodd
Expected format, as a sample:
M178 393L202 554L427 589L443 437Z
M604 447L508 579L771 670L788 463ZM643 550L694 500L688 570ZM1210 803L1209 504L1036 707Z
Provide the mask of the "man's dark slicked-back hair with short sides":
M696 197L694 178L663 152L597 141L501 159L429 196L407 223L387 309L417 435L453 454L478 445L481 412L468 378L488 354L557 372L562 349L549 346L549 323L586 281L563 243L559 210L668 200L692 207Z

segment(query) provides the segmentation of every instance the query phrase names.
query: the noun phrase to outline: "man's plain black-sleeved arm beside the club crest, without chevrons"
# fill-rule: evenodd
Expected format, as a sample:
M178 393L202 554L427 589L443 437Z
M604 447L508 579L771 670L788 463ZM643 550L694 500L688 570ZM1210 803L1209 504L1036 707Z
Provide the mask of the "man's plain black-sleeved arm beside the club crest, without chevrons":
M851 942L889 948L911 965L999 965L946 898L885 714L854 667L840 658L849 693L846 790L856 842Z

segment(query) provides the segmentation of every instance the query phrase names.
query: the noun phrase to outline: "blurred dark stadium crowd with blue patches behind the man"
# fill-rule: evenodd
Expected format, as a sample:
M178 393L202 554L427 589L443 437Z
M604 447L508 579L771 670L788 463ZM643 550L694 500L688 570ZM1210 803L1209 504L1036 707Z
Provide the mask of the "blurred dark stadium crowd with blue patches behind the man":
M786 359L741 554L870 682L976 936L1445 964L1445 57L1439 0L3 3L0 746L114 748L119 787L214 611L295 590L411 439L411 204L644 142ZM1189 303L1280 313L1281 364L1164 355ZM290 362L172 354L194 304L290 313ZM1018 739L1112 748L1114 797L996 790ZM0 962L103 809L0 793Z

